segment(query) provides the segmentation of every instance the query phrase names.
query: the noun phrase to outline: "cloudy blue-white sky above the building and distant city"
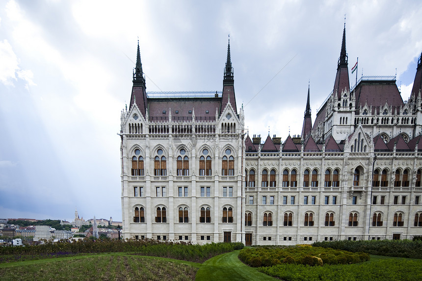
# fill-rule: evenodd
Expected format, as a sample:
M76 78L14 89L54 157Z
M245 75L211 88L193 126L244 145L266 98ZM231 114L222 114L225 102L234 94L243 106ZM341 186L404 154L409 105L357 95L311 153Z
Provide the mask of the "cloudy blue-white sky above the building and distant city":
M313 120L333 89L344 14L349 71L359 57L359 77L397 73L407 100L421 1L0 0L0 218L121 220L116 133L138 37L147 91L215 91L230 34L249 133L285 139L308 81Z

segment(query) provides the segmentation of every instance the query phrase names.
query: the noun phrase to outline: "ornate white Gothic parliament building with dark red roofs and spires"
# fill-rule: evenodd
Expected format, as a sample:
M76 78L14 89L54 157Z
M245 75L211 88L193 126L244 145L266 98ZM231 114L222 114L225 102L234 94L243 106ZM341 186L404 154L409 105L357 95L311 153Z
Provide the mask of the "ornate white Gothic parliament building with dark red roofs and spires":
M421 54L422 55L422 54ZM220 92L146 92L139 43L121 114L124 238L241 241L412 239L422 233L422 63L350 87L345 28L333 91L301 135L245 132L230 41ZM305 101L304 101L305 105Z

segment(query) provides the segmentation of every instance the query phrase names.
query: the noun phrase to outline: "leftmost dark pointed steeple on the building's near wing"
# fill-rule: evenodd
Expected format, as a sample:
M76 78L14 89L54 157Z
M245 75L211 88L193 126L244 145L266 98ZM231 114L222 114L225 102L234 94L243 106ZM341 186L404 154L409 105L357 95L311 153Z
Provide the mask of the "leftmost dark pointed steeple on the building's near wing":
M129 104L129 110L132 109L134 103L138 106L140 112L145 117L146 108L147 108L147 92L146 92L146 85L145 85L145 77L142 71L142 63L141 63L141 53L139 51L139 40L138 40L138 50L136 53L136 64L135 69L133 71L133 86L132 86L132 95L131 95L131 103Z

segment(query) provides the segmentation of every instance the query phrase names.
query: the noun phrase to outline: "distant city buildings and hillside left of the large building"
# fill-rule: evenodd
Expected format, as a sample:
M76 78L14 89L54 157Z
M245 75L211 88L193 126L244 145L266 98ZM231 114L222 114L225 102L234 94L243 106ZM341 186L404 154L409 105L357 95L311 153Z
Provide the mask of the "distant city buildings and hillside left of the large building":
M41 225L40 225L41 224ZM21 238L26 242L39 241L40 239L83 239L94 238L118 238L118 228L122 222L107 219L85 220L79 217L75 210L75 218L72 222L66 220L37 220L28 218L0 218L0 243L8 243L15 238Z

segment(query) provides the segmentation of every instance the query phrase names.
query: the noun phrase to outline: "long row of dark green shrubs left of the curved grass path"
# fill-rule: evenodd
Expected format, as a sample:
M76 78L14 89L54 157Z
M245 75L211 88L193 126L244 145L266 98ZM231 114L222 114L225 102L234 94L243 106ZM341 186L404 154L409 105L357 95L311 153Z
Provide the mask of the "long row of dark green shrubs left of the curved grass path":
M153 255L169 257L194 262L203 262L212 256L231 252L243 248L242 243L211 243L193 245L183 241L157 241L145 240L60 240L53 243L45 241L44 244L18 247L0 247L1 255L42 255L54 256L56 253L76 255L82 253L111 253L133 252L136 255ZM3 259L4 260L4 259Z

